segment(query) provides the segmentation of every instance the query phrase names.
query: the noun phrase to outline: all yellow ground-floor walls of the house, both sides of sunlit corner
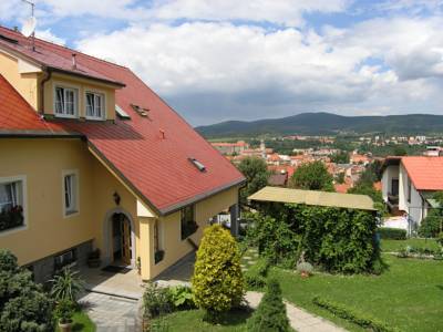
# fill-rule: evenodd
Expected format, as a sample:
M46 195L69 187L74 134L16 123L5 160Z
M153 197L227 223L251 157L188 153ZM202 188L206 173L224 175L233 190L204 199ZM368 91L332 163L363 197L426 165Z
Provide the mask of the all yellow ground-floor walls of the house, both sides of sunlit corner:
M27 264L87 240L102 250L102 259L112 243L113 212L124 211L133 220L134 262L142 262L142 278L153 279L193 250L181 239L181 212L161 217L159 243L164 259L154 263L155 217L137 217L136 197L89 151L80 139L2 138L0 178L25 176L27 227L0 232L0 248L10 249ZM63 215L63 170L78 170L79 214ZM117 206L114 193L121 197ZM237 203L234 187L196 204L198 230L190 238L199 243L208 219ZM105 231L107 224L107 232Z

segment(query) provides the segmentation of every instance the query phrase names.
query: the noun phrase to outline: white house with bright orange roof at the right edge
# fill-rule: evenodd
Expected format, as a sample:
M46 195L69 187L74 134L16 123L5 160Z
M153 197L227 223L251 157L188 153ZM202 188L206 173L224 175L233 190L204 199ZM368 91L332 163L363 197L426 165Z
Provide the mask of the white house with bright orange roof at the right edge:
M388 157L383 164L382 195L391 211L406 214L419 226L435 191L443 190L443 157Z

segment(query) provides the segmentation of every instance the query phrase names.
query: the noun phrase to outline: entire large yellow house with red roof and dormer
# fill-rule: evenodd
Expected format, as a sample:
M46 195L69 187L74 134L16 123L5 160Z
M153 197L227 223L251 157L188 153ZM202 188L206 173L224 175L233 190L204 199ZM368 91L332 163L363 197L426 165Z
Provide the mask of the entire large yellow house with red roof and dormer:
M244 176L131 70L0 27L0 248L43 281L101 249L153 279Z

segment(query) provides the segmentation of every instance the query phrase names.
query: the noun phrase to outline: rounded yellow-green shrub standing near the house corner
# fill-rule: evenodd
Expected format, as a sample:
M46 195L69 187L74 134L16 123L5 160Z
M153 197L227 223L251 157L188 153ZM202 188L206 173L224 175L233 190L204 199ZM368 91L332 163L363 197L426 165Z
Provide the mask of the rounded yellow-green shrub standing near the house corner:
M244 279L236 240L219 225L205 229L192 278L195 304L207 318L240 304Z

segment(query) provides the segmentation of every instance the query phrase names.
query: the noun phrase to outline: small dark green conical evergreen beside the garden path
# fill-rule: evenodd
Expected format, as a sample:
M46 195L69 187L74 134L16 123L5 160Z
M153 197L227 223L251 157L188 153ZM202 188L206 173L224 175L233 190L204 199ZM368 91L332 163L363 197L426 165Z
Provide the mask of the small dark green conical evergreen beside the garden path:
M286 332L290 331L286 307L281 298L280 284L277 280L268 281L268 287L260 304L247 322L251 332Z

